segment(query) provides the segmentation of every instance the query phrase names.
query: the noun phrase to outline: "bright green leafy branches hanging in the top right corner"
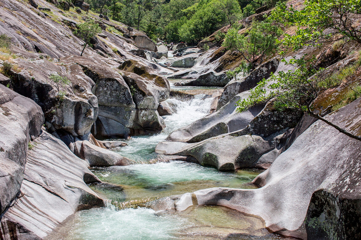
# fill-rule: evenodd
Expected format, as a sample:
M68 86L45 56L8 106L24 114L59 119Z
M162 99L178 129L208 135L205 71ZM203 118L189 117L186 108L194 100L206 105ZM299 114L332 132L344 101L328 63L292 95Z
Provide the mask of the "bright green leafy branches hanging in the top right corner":
M356 22L361 14L360 0L306 0L302 10L277 4L271 19L285 26L297 26L294 35L285 35L284 46L292 50L304 46L319 46L330 40L349 38L361 43L361 31ZM325 31L325 30L332 31Z

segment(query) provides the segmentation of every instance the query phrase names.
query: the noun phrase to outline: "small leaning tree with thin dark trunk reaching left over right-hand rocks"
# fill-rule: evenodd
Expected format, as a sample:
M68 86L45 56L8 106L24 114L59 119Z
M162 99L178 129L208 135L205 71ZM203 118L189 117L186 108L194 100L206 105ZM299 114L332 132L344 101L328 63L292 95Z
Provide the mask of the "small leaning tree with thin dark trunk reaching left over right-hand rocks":
M286 62L285 60L283 60ZM258 85L250 90L247 99L239 100L237 110L243 112L248 108L269 100L274 101L274 107L278 110L293 109L308 113L328 125L336 128L345 135L361 140L361 137L337 126L336 124L323 118L313 109L315 99L324 91L334 86L330 84L329 74L326 69L315 70L313 66L308 65L309 61L304 58L291 59L286 64L296 67L295 71L278 72L278 75L272 75L268 79L263 79ZM360 96L360 92L358 92Z

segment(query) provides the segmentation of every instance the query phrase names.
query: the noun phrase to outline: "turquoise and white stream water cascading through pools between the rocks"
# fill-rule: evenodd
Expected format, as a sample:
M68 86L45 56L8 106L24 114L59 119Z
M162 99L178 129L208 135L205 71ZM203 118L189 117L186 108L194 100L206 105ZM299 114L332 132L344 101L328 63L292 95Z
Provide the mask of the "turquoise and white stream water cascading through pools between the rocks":
M214 91L212 88L174 87L181 91ZM264 222L224 207L197 206L183 212L165 213L139 207L161 197L209 187L254 188L250 181L260 171L218 172L214 168L181 161L144 164L157 158L159 141L172 131L209 114L212 98L197 94L192 99L168 99L175 113L165 116L166 128L159 134L125 140L128 146L115 149L134 164L93 168L103 182L90 187L106 201L107 207L83 210L64 227L64 240L212 240L280 239L265 230ZM208 95L208 93L207 93ZM63 230L61 230L63 231Z

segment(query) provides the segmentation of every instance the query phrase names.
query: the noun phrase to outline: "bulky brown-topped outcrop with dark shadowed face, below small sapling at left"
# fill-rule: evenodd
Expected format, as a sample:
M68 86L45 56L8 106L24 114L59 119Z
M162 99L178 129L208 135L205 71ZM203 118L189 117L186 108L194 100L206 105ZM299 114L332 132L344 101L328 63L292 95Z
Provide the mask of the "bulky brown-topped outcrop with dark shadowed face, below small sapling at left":
M95 83L77 69L78 66L66 71L43 59L28 61L18 58L14 62L22 69L19 73L14 72L14 90L42 107L48 128L66 130L74 136L90 131L98 116L98 100L91 92ZM60 84L58 91L57 84L49 79L51 74L68 78L70 84ZM62 99L58 94L64 94Z

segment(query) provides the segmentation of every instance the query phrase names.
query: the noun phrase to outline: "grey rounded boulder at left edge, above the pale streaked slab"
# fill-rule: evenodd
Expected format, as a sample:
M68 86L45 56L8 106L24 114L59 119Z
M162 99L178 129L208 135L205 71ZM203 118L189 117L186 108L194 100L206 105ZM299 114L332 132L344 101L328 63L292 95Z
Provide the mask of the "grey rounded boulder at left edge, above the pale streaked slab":
M39 105L0 85L0 213L19 193L28 142L39 136L43 123Z

